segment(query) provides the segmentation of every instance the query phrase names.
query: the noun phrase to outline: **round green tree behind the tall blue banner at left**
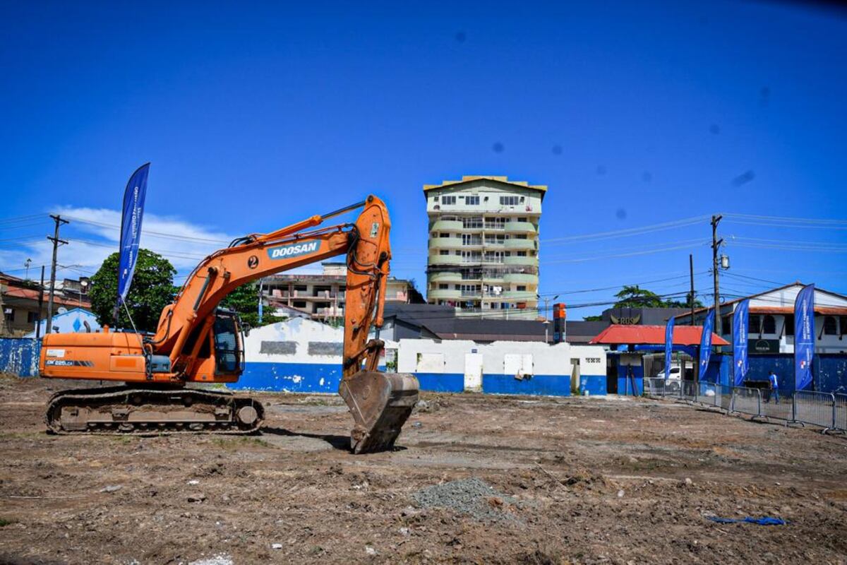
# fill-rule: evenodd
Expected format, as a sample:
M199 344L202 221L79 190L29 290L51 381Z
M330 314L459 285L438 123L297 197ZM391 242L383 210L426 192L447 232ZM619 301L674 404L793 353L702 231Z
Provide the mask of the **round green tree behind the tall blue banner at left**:
M113 325L114 305L118 299L119 255L112 253L91 277L91 310L100 324ZM126 307L139 331L156 331L162 309L174 300L176 269L169 260L148 249L138 250L136 273L132 278ZM131 328L126 308L118 315L119 328Z

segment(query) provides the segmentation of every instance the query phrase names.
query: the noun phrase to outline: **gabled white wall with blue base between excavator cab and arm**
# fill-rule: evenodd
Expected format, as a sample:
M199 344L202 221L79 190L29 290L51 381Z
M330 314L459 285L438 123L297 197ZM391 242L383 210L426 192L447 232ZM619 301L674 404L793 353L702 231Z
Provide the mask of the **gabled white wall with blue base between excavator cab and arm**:
M232 389L335 394L341 379L344 330L310 319L291 319L252 330L245 369ZM388 355L396 343L386 342Z

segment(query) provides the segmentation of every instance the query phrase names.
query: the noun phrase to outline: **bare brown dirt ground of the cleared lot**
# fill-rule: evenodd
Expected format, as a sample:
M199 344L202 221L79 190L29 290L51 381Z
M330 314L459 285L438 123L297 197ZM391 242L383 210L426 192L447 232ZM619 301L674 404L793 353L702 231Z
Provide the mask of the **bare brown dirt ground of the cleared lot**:
M249 437L47 435L64 385L0 379L0 562L847 563L847 440L811 429L424 394L396 451L353 456L335 397L257 395Z

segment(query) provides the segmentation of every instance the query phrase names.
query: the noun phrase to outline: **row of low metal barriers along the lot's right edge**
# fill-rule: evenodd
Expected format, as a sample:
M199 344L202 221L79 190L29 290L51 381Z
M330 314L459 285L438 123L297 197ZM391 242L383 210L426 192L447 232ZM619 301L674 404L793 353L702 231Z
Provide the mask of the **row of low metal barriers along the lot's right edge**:
M847 394L796 391L786 395L772 389L661 378L644 382L645 396L692 402L752 418L811 424L824 432L847 432Z

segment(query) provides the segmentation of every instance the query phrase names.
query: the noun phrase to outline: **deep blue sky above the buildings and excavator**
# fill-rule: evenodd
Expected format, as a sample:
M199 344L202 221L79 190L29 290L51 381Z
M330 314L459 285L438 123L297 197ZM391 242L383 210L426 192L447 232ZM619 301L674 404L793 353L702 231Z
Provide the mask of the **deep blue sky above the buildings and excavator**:
M573 306L613 294L583 291L627 283L685 291L689 252L708 291L706 219L576 236L717 212L843 220L728 217L728 293L793 280L847 292L844 12L119 4L3 5L4 271L48 258L49 220L20 217L61 210L117 224L127 178L151 161L146 230L191 239L142 244L181 273L216 241L374 192L395 226L394 274L423 287L422 186L506 174L550 187L540 292ZM78 265L68 275L96 270L116 247L108 225L72 222L64 235L59 263Z

